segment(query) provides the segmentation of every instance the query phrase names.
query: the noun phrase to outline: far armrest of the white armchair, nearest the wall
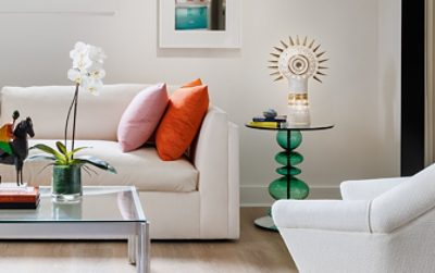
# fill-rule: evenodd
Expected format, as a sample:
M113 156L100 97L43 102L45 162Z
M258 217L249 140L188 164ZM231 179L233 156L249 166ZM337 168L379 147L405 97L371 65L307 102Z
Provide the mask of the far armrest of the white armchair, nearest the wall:
M378 178L365 181L345 181L340 184L344 200L372 200L396 187L409 177Z

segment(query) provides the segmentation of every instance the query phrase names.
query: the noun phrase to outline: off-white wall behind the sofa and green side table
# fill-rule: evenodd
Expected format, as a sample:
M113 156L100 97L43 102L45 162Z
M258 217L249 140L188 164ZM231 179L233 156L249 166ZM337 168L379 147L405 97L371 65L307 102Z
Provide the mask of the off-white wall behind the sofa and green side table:
M0 85L70 84L69 51L77 40L107 51L105 83L199 76L212 102L240 125L243 202L264 203L279 149L273 133L244 123L268 108L285 110L286 83L269 77L269 52L290 34L309 35L327 50L331 67L324 84L310 83L312 119L336 126L304 135L300 178L313 196L334 195L344 179L399 174L399 4L245 0L240 50L163 50L157 0L2 1Z

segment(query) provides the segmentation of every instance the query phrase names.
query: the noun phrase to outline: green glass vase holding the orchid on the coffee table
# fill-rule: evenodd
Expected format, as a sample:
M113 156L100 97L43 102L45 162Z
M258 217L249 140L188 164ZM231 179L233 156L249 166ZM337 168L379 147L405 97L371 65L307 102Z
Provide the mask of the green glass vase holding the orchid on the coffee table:
M51 181L51 196L54 201L79 201L82 194L82 167L79 165L54 165Z

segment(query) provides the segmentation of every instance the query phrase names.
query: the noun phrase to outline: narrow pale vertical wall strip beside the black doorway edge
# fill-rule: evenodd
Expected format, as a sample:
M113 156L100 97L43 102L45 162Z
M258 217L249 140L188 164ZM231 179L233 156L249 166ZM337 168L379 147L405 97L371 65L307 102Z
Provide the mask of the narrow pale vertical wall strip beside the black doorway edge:
M386 173L400 173L400 54L401 1L381 0L378 5L378 142L380 160L390 161ZM389 149L384 150L387 145Z

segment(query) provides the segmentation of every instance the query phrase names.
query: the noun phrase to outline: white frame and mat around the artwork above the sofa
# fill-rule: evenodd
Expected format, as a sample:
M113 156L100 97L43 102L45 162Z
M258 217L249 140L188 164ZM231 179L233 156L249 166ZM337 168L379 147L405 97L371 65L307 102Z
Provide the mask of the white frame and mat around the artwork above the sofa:
M241 0L226 0L225 29L175 29L175 0L159 0L160 48L240 48Z

